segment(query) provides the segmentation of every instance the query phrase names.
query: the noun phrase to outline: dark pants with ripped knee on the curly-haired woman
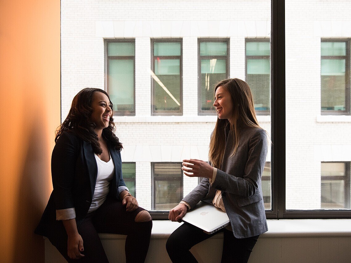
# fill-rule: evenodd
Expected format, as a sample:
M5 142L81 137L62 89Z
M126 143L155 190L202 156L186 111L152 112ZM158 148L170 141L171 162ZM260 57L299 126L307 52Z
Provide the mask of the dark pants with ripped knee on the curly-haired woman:
M144 209L139 207L127 212L120 200L107 198L98 210L85 217L78 229L83 239L84 257L70 259L67 256L67 240L56 247L68 262L108 262L98 233L127 235L126 262L144 262L150 244L152 221L135 222L135 216L141 210Z

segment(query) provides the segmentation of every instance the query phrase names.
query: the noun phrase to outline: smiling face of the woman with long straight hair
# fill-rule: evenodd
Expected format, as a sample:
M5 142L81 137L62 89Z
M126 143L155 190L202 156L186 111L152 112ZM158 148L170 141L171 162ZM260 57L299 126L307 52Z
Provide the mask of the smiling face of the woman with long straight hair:
M216 108L218 119L231 120L233 116L233 102L229 91L223 86L216 89L213 106Z

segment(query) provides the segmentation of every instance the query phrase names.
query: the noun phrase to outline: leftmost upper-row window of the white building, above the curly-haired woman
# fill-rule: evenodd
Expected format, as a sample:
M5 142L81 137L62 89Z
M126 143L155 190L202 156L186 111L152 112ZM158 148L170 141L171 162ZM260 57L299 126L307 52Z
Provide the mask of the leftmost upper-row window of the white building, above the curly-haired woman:
M135 115L134 40L105 40L106 86L114 115Z

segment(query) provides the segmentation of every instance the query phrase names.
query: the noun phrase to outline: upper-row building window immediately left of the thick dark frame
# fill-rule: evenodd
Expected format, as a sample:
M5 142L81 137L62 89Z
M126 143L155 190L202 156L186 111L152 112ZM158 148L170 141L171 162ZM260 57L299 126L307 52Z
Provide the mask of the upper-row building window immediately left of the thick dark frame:
M245 41L245 80L251 88L257 115L270 115L270 52L269 39L247 38Z

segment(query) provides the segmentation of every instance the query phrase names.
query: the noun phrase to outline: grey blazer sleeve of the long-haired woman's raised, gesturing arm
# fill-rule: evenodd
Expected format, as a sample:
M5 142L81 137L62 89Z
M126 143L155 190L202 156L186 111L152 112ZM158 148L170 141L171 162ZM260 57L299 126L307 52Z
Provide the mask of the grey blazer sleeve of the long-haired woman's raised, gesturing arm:
M216 180L212 182L212 187L228 193L248 197L253 196L258 189L265 166L267 155L267 136L263 129L257 130L248 140L248 151L237 151L236 155L246 154L246 163L239 164L235 174L227 174L222 170L217 169ZM239 160L242 156L240 156ZM230 162L234 162L235 156L229 157ZM245 160L245 159L244 159Z

